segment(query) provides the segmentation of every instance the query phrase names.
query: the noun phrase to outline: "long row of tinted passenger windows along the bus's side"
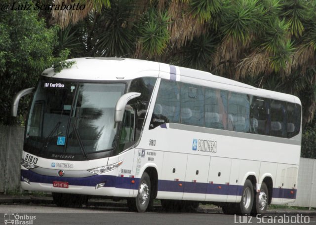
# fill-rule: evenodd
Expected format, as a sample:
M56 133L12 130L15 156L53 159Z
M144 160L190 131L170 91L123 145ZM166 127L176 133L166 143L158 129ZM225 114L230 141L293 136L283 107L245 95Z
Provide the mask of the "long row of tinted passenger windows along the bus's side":
M301 107L162 79L150 129L170 122L291 138L300 131Z

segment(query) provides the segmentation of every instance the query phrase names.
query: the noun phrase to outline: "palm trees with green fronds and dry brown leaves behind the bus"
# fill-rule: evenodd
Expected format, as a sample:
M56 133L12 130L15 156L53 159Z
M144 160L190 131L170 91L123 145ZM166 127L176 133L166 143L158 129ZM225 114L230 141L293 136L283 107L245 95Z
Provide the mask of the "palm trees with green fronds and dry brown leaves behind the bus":
M282 90L301 97L305 124L316 110L315 4L99 0L87 1L86 13L54 17L64 27L63 35L75 32L73 38L60 38L73 55L151 59Z

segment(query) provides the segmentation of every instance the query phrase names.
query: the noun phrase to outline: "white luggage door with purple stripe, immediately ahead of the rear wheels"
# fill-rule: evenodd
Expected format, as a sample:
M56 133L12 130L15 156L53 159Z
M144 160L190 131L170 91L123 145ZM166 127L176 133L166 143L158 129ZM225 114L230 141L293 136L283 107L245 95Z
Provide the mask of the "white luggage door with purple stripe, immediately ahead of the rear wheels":
M232 159L211 157L206 201L226 202L229 190Z

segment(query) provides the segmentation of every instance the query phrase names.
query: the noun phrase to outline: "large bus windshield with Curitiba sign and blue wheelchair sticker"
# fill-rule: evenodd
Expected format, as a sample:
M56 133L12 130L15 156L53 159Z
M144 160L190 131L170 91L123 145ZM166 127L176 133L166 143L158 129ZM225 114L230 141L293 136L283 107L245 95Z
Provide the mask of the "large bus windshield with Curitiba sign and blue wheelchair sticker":
M27 122L26 147L85 157L113 149L115 105L124 90L124 83L40 80Z

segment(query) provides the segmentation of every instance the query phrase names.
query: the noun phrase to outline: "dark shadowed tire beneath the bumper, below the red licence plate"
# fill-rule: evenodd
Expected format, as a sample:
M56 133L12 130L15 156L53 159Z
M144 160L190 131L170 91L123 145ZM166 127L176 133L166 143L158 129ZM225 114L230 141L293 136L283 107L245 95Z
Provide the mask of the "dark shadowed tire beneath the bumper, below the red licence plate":
M52 193L54 203L59 207L75 207L79 208L83 204L86 205L88 197L80 194Z

